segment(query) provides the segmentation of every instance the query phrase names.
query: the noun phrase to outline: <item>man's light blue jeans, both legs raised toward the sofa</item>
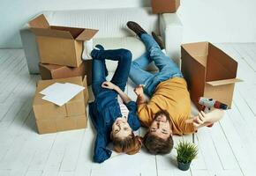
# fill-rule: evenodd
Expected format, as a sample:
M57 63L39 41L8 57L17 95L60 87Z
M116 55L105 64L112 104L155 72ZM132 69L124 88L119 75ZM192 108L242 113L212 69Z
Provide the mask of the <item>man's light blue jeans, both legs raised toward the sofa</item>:
M147 52L132 62L129 77L135 84L145 84L144 91L151 97L159 83L172 77L183 77L183 75L177 64L169 56L162 53L152 36L143 33L141 40L146 45ZM154 62L158 68L157 73L152 74L143 70L150 62Z

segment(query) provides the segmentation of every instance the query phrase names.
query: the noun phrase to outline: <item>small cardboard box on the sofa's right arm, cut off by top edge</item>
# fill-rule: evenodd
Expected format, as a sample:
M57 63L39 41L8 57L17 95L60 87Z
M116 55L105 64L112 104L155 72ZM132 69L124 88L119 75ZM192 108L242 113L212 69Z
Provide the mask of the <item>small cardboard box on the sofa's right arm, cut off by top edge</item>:
M151 0L152 13L175 13L180 0Z

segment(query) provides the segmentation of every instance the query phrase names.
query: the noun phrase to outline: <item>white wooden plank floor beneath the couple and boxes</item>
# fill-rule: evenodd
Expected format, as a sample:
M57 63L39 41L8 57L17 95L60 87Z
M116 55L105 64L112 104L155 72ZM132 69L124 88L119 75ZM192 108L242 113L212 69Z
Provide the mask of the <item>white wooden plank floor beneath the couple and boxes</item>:
M177 169L176 153L121 155L102 165L92 162L94 131L38 135L32 99L39 76L28 75L22 50L0 50L1 176L253 176L256 175L256 44L218 44L239 63L232 109L213 128L195 135L200 148L188 172ZM134 99L132 86L127 92ZM175 142L192 136L175 136Z

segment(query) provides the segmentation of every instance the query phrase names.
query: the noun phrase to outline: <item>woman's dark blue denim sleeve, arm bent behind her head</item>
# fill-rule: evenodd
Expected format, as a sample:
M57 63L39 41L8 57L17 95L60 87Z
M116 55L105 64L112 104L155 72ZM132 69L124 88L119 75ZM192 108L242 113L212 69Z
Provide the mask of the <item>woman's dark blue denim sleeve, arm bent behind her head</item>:
M94 143L94 162L102 163L110 158L112 151L106 147L108 145L108 136L104 133L98 133Z

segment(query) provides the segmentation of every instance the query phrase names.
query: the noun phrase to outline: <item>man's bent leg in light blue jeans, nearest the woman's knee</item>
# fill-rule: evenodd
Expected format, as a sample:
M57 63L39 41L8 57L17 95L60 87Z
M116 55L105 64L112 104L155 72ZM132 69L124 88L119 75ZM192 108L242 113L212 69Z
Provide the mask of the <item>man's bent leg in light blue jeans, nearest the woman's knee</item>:
M147 65L152 62L148 53L141 55L138 59L132 61L129 77L134 84L145 84L145 80L148 77L152 77L153 74L144 70Z

